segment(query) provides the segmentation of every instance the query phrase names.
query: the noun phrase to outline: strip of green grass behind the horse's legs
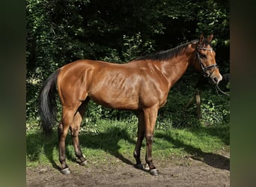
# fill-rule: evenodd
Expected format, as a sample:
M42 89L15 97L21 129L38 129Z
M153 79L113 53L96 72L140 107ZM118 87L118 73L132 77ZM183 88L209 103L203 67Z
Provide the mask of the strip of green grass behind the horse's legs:
M82 152L88 162L101 165L105 162L115 164L125 162L134 164L132 153L135 147L137 126L129 121L99 120L98 130L88 131L85 126L79 135ZM26 161L28 167L53 165L58 167L58 135L43 135L40 129L29 129L26 136ZM66 140L67 163L75 162L70 135ZM156 129L153 141L153 159L168 160L171 156L204 156L229 150L229 125L197 126L195 128L165 130ZM144 162L145 142L141 148Z

